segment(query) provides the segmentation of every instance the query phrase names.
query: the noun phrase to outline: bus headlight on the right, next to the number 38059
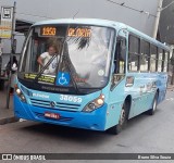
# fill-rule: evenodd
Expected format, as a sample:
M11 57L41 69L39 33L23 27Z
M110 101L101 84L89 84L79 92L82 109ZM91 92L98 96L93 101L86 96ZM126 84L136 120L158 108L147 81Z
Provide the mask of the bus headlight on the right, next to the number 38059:
M104 96L100 95L97 99L94 101L90 101L84 109L83 112L92 112L94 110L102 106L104 104Z

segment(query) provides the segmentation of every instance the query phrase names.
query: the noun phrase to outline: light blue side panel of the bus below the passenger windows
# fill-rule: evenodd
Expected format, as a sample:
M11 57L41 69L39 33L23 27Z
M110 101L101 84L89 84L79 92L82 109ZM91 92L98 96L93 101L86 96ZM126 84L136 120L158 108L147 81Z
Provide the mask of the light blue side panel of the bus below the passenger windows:
M134 77L134 85L126 87L126 77ZM135 117L152 108L154 95L158 93L158 103L164 100L166 93L166 73L127 73L126 76L112 91L109 99L109 116L107 128L119 123L122 105L130 97L128 118Z

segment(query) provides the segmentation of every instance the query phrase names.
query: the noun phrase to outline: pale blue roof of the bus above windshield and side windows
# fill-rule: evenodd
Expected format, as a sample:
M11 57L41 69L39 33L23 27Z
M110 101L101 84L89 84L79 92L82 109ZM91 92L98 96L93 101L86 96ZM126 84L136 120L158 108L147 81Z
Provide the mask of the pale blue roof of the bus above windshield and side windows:
M60 18L60 20L49 20L49 21L37 22L33 26L47 25L47 24L84 24L84 25L88 24L88 25L112 27L117 30L121 28L124 28L124 29L127 29L129 33L137 35L138 37L144 38L145 40L148 40L149 42L170 51L170 47L165 46L164 43L161 43L154 38L120 22L100 20L100 18Z

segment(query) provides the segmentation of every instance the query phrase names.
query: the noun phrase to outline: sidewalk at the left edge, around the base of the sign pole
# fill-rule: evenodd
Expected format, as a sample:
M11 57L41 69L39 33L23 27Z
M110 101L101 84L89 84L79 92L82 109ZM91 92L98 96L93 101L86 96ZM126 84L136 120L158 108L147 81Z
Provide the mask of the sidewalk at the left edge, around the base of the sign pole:
M13 113L13 96L10 97L9 109L7 109L7 86L0 90L0 125L16 122Z

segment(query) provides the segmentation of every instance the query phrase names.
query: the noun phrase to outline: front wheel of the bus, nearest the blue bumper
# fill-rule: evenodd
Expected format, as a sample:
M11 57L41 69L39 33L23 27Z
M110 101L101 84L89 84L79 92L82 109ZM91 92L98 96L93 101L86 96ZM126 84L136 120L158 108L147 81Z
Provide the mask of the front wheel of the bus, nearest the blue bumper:
M126 126L128 116L127 116L127 110L126 110L125 105L126 104L124 103L123 108L122 108L122 111L121 111L121 116L120 116L120 120L119 120L119 124L113 126L113 127L111 127L111 128L109 128L107 130L109 134L117 135Z

